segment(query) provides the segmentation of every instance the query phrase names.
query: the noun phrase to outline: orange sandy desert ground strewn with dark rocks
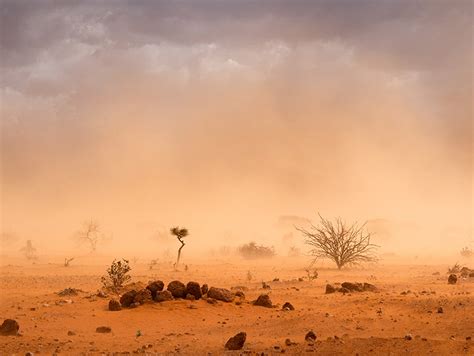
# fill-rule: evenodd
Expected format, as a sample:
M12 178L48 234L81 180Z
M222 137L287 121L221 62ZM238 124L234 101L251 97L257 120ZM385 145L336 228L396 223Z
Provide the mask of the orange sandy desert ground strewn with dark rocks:
M17 320L21 335L0 336L1 354L474 355L474 341L466 339L474 337L474 278L448 285L445 265L380 263L370 269L320 269L318 279L299 281L306 276L304 263L297 258L223 260L190 263L188 271L173 271L170 265L149 270L138 263L132 265L133 282L245 286L248 302L175 300L118 312L108 311L109 298L91 297L101 286L105 263L3 264L0 317ZM262 281L271 289L262 289ZM344 281L369 282L380 292L325 294L327 283ZM67 287L83 293L57 295ZM249 303L262 293L270 294L274 308ZM296 310L281 310L285 302ZM112 333L97 333L98 326L109 326ZM317 334L314 345L304 340L309 330ZM225 342L240 331L247 333L244 348L226 351ZM405 340L407 334L413 339ZM286 339L295 344L287 346Z

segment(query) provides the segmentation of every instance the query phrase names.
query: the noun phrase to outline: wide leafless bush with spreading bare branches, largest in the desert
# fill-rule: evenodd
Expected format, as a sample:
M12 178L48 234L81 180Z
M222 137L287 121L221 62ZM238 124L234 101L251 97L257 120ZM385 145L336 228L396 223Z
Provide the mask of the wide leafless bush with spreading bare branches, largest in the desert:
M310 251L314 260L329 258L338 269L345 265L376 261L375 249L370 242L371 234L366 231L365 223L357 222L347 226L340 218L335 223L319 215L318 226L311 224L311 231L296 227L305 237L305 243L312 246Z

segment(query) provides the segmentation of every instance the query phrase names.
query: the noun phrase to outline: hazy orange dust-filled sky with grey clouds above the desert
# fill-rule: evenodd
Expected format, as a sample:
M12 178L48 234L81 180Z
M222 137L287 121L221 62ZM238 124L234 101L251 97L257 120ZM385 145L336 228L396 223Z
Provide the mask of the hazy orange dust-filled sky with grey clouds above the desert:
M279 245L280 217L319 212L457 251L472 6L0 0L2 236L67 249L96 219L109 248L174 225L196 251Z

